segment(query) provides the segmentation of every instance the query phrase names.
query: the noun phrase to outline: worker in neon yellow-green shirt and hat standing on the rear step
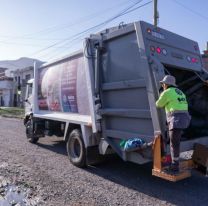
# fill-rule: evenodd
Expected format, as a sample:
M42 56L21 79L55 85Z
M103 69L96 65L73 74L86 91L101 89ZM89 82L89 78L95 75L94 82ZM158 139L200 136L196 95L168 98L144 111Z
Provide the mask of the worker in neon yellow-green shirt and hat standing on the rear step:
M189 126L191 117L185 94L177 88L174 76L166 75L160 81L163 92L156 102L158 108L165 108L170 137L170 173L179 172L180 139L183 129Z

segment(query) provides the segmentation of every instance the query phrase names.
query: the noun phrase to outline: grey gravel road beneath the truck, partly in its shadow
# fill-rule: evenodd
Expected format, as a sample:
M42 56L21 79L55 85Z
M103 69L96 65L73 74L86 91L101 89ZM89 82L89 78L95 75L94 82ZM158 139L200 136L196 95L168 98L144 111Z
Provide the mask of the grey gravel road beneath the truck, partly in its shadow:
M171 183L151 176L150 164L118 157L79 169L69 162L61 139L46 137L34 145L22 120L1 117L0 125L0 206L208 205L208 178L197 172ZM6 203L7 191L24 201Z

